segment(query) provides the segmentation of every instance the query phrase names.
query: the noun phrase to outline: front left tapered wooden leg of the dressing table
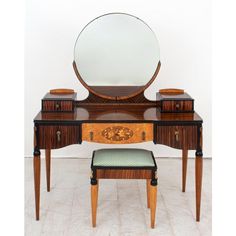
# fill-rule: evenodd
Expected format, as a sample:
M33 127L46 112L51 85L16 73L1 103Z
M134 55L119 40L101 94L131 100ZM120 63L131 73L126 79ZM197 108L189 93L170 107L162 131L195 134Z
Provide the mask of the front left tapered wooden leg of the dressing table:
M35 210L36 220L39 220L40 208L40 151L34 150L34 191L35 191Z

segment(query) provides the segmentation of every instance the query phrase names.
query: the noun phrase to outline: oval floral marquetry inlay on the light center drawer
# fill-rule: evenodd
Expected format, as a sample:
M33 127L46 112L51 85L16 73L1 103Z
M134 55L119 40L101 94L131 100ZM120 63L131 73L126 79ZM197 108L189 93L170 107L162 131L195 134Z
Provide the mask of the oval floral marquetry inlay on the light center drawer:
M131 129L123 126L107 127L102 131L102 136L111 141L128 140L133 134Z

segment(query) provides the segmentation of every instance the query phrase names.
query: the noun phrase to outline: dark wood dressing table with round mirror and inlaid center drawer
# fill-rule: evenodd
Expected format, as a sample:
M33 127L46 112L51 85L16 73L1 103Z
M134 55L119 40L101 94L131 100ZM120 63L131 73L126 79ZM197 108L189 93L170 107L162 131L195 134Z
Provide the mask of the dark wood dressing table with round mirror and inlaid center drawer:
M200 221L202 119L186 93L157 93L154 101L144 96L160 67L156 36L139 18L111 13L84 27L75 44L73 68L88 89L88 97L77 100L73 91L51 91L42 99L42 109L34 119L36 220L40 216L42 149L50 191L52 149L86 142L136 143L138 147L139 143L152 141L182 150L183 192L188 150L196 150L196 220Z

